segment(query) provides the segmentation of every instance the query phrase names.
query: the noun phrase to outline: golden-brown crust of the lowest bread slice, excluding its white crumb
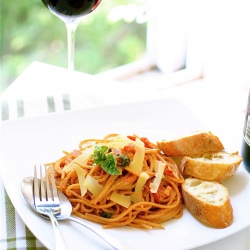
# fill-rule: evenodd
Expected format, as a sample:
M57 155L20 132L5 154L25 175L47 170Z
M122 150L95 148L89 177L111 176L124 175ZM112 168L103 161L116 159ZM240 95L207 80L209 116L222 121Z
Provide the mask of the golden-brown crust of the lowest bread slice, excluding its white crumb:
M223 192L223 201L216 204L215 201L204 201L197 194L190 190L190 180L196 181L196 178L188 178L182 184L182 194L186 208L199 221L215 228L225 228L233 222L233 209L230 203L227 188L217 182L209 182L220 192ZM201 181L204 182L204 181ZM202 192L202 191L201 191Z

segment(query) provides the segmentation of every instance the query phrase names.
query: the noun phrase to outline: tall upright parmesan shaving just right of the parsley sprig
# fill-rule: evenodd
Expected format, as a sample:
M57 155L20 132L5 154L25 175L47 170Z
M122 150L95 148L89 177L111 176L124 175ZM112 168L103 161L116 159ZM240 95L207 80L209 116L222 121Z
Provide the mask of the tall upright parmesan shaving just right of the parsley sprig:
M134 144L136 152L133 161L129 164L129 168L137 175L140 175L145 156L145 147L144 143L139 138L136 138Z

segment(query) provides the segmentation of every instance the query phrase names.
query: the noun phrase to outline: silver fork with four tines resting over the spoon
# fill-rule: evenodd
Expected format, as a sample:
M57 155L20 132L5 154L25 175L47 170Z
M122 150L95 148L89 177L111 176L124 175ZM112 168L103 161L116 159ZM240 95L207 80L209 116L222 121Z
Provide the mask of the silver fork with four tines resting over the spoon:
M55 233L56 249L66 249L66 245L64 243L63 237L59 230L58 221L56 219L56 215L59 215L61 213L61 206L55 185L53 169L50 166L52 188L50 188L49 178L45 166L44 170L45 183L43 181L42 166L40 165L41 181L37 178L36 166L34 169L33 195L35 201L35 208L39 213L46 215L50 218Z

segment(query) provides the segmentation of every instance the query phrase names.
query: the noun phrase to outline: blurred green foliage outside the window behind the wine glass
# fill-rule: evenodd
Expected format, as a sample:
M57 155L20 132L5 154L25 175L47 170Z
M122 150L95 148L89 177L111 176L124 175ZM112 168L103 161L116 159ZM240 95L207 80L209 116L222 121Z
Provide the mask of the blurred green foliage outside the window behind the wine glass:
M147 0L103 0L76 31L75 70L96 74L143 57ZM64 23L41 0L0 0L2 92L33 61L67 67Z

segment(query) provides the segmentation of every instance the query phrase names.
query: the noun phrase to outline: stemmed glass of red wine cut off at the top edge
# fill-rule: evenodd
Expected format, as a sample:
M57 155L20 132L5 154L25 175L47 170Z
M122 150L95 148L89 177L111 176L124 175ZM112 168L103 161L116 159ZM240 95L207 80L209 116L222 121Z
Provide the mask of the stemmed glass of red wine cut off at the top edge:
M66 25L68 69L74 70L75 33L84 16L94 11L102 0L42 0L45 6Z

